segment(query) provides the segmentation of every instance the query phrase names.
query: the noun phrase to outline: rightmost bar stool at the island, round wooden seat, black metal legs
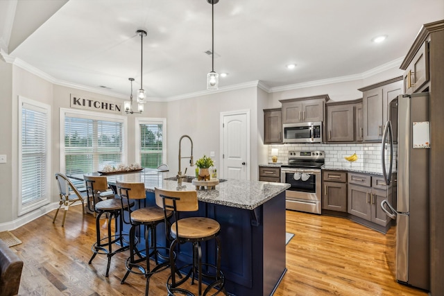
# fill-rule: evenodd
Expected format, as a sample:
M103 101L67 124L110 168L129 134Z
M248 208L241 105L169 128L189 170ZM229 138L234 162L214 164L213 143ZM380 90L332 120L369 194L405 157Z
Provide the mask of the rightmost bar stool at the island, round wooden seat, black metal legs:
M167 220L167 211L173 211L173 216L176 222L171 225L169 234L173 241L170 245L170 268L171 275L167 279L168 295L192 295L189 290L179 288L179 286L189 277L191 277L191 284L194 284L194 279L198 279L198 295L207 295L207 293L215 288L217 291L212 295L217 295L222 292L228 295L224 286L225 278L221 271L221 241L217 236L221 230L219 223L210 218L205 217L189 217L180 219L179 213L182 211L197 211L199 208L196 191L169 191L155 188L155 202L157 206L164 209L164 220ZM168 234L168 233L167 233ZM202 263L202 249L201 243L214 239L216 241L216 264ZM193 262L183 265L178 270L185 270L189 268L187 275L176 281L176 264L172 253L177 244L191 242L193 244ZM208 269L215 270L215 275L202 272L202 266L205 265ZM202 294L202 277L213 279L213 281L205 288Z

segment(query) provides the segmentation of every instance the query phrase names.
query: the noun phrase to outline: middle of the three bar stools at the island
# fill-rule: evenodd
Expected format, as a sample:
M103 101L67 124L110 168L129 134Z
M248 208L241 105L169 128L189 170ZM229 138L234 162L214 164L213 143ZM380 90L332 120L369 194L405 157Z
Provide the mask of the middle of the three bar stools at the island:
M130 272L137 275L144 275L146 277L145 295L148 296L150 277L156 272L161 272L169 268L169 248L157 247L156 240L156 227L160 223L164 223L164 211L160 207L142 207L146 205L146 191L144 183L128 183L128 182L116 182L117 194L121 197L122 207L125 204L130 203L130 200L138 200L139 209L128 209L129 221L125 220L123 216L123 222L130 224L130 256L126 259L126 275L121 280L121 284L125 283L126 278L130 275ZM142 205L143 201L143 205ZM123 210L123 208L122 208ZM172 211L167 211L167 218L173 216ZM144 225L145 232L145 250L137 250L135 243L136 228L140 225ZM151 237L151 239L150 239ZM163 254L160 254L159 249L164 249ZM142 256L140 252L145 251L145 256ZM139 256L139 259L135 258L135 254ZM155 259L155 266L151 269L150 258ZM161 262L160 262L160 260ZM145 261L146 268L139 263ZM133 270L136 268L136 270Z

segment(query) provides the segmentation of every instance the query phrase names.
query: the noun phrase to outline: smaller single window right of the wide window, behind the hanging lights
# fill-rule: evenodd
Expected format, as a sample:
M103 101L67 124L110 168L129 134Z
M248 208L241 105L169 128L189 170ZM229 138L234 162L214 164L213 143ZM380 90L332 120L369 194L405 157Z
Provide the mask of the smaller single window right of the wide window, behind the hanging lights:
M167 162L166 122L166 119L136 119L136 143L139 143L136 161L143 168L157 168Z

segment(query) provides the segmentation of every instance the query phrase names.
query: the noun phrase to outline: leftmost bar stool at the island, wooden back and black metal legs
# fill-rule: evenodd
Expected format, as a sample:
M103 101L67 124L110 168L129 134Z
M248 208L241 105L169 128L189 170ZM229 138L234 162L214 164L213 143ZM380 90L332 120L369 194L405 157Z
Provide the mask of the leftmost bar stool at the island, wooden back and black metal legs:
M119 252L123 252L129 249L128 239L124 239L124 236L128 234L122 234L123 227L123 210L128 210L128 203L121 201L120 198L109 198L106 200L100 200L100 193L108 189L108 182L105 176L83 176L85 180L85 187L87 189L88 207L90 207L90 201L94 204L94 211L96 213L96 243L92 245L91 250L93 252L88 264L91 264L97 254L106 254L108 256L108 265L106 267L105 277L108 277L110 272L111 258ZM100 201L99 201L100 200ZM133 207L134 202L130 204ZM100 219L105 214L108 216L108 236L101 238L100 234ZM119 234L112 234L112 218L117 229L117 223L119 223ZM112 250L112 245L119 243L119 247Z

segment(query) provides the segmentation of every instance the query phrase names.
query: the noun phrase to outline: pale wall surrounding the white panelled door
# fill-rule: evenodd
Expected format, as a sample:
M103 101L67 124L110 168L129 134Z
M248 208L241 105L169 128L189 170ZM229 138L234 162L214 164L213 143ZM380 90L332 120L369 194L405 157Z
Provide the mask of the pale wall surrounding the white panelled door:
M205 96L187 98L167 103L167 141L168 164L170 171L178 171L179 139L183 134L189 135L194 143L194 161L203 155L210 156L214 151L216 167L221 163L220 151L220 116L221 112L250 110L251 129L251 164L250 178L257 180L257 91L256 87L238 89L230 92L217 92ZM262 112L262 110L261 110ZM191 155L188 139L182 140L182 157ZM194 175L194 167L189 167L189 159L182 159L182 173ZM253 179L254 178L254 179Z

